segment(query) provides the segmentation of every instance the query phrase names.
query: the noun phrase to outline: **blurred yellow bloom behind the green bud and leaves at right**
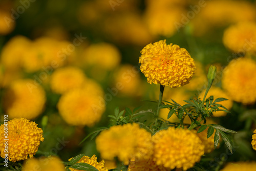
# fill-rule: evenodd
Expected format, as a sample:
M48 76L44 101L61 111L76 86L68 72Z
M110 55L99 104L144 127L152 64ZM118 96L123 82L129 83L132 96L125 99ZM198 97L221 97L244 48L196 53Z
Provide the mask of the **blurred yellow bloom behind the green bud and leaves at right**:
M203 91L199 95L199 98L201 98L201 100L204 98L204 93L205 93L205 91ZM214 99L217 99L217 98L220 98L220 97L228 99L228 100L217 102L217 104L223 105L228 110L230 110L232 108L233 101L230 99L228 94L226 94L223 90L221 90L221 88L211 87L209 92L207 93L206 98L208 98L210 96L214 96ZM223 109L223 108L220 107L220 109ZM212 116L214 116L214 117L221 117L221 116L226 116L226 114L227 113L224 112L224 111L217 111L217 112L212 113Z

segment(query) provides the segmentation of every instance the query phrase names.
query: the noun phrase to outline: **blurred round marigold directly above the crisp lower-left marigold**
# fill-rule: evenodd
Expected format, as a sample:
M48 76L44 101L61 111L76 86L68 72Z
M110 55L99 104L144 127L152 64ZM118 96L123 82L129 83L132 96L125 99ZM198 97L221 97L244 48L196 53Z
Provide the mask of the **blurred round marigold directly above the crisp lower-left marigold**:
M4 95L4 110L9 118L35 119L44 110L46 95L31 79L15 80Z

